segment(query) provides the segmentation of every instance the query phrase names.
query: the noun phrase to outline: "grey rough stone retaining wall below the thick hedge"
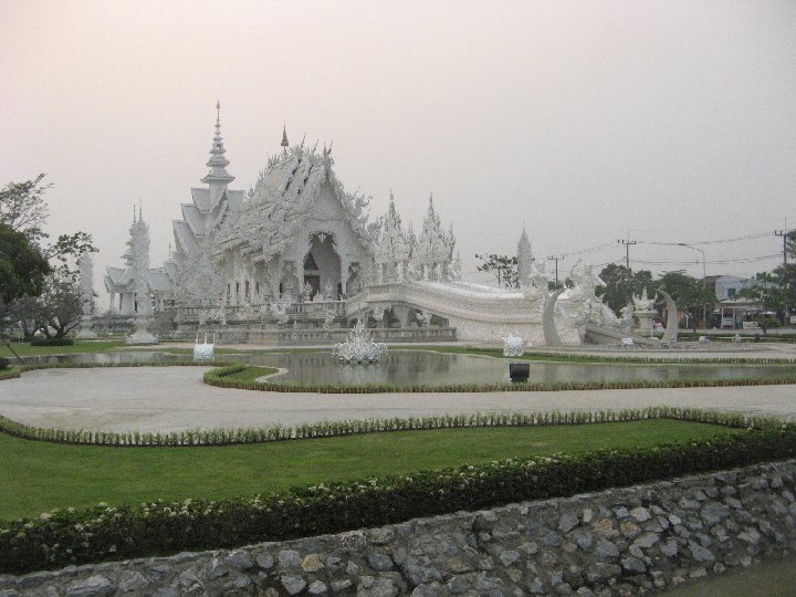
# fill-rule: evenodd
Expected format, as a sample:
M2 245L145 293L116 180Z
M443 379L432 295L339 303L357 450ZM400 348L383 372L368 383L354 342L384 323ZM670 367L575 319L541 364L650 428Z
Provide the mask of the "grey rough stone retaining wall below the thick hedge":
M650 485L27 576L0 597L629 595L796 546L796 461Z

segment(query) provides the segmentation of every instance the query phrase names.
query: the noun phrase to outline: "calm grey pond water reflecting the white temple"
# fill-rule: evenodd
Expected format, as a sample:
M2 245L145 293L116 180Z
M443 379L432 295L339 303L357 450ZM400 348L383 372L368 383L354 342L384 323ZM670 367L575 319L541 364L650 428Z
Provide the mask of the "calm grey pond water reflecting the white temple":
M360 386L390 384L400 386L441 386L450 384L501 384L509 381L511 359L485 358L425 350L394 350L379 363L346 365L331 353L300 354L235 354L223 355L224 360L250 365L281 367L287 373L280 381L298 384L332 384ZM102 353L34 357L36 363L73 362L98 364L125 363L177 363L185 355L156 352ZM629 381L637 379L733 379L783 377L793 371L792 366L776 365L633 365L584 363L531 362L528 381L553 384L564 381Z

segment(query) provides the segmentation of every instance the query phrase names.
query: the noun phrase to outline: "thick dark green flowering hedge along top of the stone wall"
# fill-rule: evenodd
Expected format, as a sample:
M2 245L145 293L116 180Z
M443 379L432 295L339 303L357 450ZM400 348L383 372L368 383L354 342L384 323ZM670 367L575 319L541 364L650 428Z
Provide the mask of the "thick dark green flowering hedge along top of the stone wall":
M0 528L0 572L223 548L568 496L796 457L796 426L710 441L495 461L223 501L54 511Z

